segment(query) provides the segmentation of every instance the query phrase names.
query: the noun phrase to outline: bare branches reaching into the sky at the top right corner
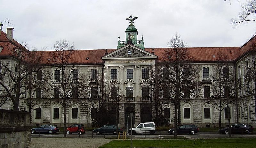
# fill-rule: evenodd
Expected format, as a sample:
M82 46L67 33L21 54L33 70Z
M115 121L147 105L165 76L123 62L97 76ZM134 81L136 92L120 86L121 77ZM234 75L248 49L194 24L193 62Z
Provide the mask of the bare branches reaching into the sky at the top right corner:
M243 22L256 22L256 0L249 0L245 4L241 4L242 11L237 18L232 18L232 23L236 27Z

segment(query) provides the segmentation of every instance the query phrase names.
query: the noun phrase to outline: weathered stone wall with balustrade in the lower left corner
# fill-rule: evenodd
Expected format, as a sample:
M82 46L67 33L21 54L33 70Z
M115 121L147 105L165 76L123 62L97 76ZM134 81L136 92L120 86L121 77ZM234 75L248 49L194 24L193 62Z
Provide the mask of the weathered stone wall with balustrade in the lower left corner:
M0 109L0 147L26 148L31 142L29 112Z

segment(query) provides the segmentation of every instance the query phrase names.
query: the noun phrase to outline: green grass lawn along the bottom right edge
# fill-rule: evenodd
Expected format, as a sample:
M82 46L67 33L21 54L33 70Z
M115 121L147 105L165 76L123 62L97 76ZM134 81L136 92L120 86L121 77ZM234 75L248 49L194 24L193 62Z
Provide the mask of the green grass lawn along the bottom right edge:
M172 139L172 140L132 140L132 146L136 148L255 148L254 138L223 138L223 139ZM99 148L131 147L131 140L114 140Z

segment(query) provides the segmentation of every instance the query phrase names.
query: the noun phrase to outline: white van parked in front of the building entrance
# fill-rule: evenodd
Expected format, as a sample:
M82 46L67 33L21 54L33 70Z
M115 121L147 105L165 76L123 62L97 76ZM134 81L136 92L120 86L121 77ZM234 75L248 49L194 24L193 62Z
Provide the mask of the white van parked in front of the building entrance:
M132 134L137 133L149 133L154 134L156 132L156 126L154 122L140 123L136 127L132 128ZM131 134L131 129L128 129L128 133Z

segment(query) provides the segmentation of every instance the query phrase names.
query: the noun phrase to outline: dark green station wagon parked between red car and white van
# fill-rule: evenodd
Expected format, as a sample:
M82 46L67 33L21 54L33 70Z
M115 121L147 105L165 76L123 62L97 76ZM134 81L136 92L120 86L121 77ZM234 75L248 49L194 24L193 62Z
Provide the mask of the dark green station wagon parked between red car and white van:
M103 134L104 132L106 134L114 134L116 135L117 132L123 133L123 128L118 128L118 131L116 131L116 125L104 125L101 128L93 129L93 133L96 133L97 135Z

